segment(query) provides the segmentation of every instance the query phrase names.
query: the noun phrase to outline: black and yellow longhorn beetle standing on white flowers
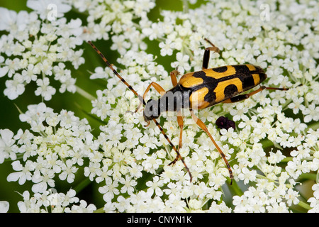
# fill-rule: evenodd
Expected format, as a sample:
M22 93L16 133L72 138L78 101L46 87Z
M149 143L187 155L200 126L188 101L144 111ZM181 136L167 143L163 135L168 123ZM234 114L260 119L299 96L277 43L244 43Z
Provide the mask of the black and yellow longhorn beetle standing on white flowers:
M219 148L216 141L213 139L211 133L209 133L206 125L194 114L194 109L204 109L209 106L213 106L220 102L223 103L233 103L237 101L242 101L248 99L250 96L257 94L258 92L262 92L264 89L277 89L277 90L288 90L286 88L275 88L275 87L264 87L261 86L254 92L250 92L248 94L240 94L245 92L253 87L256 87L258 84L263 82L267 75L261 67L256 65L226 65L222 67L216 67L212 69L208 69L208 62L210 57L210 52L219 52L220 50L211 43L210 40L204 38L211 47L205 49L203 54L203 65L201 71L197 72L189 72L184 74L179 82L177 82L177 75L179 72L174 70L170 73L170 77L172 80L173 88L169 91L165 92L165 90L156 82L151 82L150 85L145 90L143 96L140 96L133 87L128 84L128 82L121 77L116 70L112 67L112 65L106 60L106 57L96 48L96 46L88 41L88 43L98 52L106 65L111 68L114 74L121 79L128 89L130 89L135 96L138 96L140 99L140 105L143 104L145 106L143 111L144 120L147 122L147 126L150 124L150 121L154 121L159 130L164 135L164 138L167 139L169 145L177 153L177 157L169 163L169 165L174 164L177 160L181 160L183 162L186 171L189 173L190 181L192 179L191 172L189 171L189 167L187 167L183 157L181 157L179 153L179 149L181 148L182 142L182 133L183 133L183 116L181 116L181 109L189 109L191 113L191 117L197 123L197 125L206 132L208 137L211 139L216 149L220 153L220 156L223 158L225 165L228 168L228 172L230 175L230 184L233 183L233 172L228 163L228 160L225 158L225 154ZM150 88L154 87L161 97L157 100L150 99L145 102L145 96L147 92L150 91ZM167 99L172 100L171 102L167 102ZM135 110L138 111L140 105ZM177 111L177 123L179 125L179 147L178 149L172 144L171 140L164 133L162 126L156 121L156 118L160 116L162 112L165 111Z

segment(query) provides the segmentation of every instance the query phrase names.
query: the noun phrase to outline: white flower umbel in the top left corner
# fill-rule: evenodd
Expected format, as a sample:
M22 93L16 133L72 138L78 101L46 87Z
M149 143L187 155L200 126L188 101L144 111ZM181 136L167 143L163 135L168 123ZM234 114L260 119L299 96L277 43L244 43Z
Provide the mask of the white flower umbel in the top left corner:
M51 21L47 19L49 4L57 7L57 16ZM61 18L71 9L62 0L29 0L27 5L35 11L16 13L0 7L0 77L8 77L4 94L16 99L27 84L36 81L35 95L47 101L56 92L50 85L53 79L62 84L59 92L74 93L75 79L70 71L57 76L55 68L59 65L63 70L65 65L59 62L71 62L75 69L84 63L83 51L75 50L83 43L82 21Z

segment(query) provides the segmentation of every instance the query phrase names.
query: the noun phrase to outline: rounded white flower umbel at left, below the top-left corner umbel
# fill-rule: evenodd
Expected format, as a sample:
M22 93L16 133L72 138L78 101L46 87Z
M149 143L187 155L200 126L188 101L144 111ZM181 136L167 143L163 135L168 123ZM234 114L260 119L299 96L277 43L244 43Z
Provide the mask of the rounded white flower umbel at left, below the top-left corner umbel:
M1 130L2 159L12 162L13 170L7 180L24 184L32 181L33 192L43 193L55 187L55 176L68 183L74 182L75 173L98 147L86 119L80 120L71 111L56 114L45 104L28 106L21 121L30 124L30 131L13 133Z

